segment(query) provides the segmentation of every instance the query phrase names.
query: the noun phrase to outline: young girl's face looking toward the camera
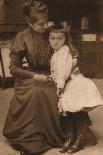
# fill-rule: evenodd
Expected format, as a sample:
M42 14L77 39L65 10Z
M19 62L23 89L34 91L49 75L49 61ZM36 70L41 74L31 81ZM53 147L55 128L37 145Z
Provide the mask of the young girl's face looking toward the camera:
M59 50L65 45L66 37L62 32L50 32L49 34L50 46L53 50Z

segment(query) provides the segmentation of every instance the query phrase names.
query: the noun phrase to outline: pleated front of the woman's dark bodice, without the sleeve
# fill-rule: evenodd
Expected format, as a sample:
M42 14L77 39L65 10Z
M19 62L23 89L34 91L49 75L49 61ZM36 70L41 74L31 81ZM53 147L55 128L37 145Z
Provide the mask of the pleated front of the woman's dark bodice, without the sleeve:
M29 66L33 70L50 69L50 47L47 38L38 33L32 33L33 49L29 52Z

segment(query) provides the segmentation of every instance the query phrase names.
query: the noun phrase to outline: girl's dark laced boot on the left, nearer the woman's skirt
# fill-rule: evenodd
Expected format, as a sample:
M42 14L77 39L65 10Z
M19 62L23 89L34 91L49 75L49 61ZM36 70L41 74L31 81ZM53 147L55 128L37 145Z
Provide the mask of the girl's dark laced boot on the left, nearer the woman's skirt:
M65 153L70 146L74 143L74 137L73 136L68 136L66 142L64 143L63 147L59 150L61 153Z

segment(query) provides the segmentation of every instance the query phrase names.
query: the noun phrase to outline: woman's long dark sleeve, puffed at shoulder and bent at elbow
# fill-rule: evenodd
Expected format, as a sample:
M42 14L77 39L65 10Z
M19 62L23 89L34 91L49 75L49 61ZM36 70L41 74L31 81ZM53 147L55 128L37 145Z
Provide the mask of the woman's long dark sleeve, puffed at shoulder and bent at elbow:
M34 73L29 70L24 70L23 58L25 57L26 47L23 40L22 33L18 33L11 45L11 61L10 61L10 72L14 77L17 78L33 78Z

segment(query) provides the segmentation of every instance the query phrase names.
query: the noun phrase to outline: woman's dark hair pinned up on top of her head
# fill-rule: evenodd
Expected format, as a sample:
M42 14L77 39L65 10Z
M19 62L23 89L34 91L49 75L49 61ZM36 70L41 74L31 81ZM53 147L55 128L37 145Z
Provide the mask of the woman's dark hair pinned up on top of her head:
M39 0L26 0L23 4L23 13L32 22L38 19L38 16L48 17L48 7Z

